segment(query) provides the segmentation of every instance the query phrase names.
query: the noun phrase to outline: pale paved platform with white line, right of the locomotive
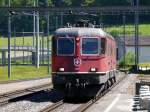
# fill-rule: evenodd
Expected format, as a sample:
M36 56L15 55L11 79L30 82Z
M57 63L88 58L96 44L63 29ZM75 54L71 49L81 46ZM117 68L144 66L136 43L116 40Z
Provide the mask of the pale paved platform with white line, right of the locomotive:
M133 112L136 75L128 74L119 85L96 102L87 112ZM147 111L138 111L147 112Z

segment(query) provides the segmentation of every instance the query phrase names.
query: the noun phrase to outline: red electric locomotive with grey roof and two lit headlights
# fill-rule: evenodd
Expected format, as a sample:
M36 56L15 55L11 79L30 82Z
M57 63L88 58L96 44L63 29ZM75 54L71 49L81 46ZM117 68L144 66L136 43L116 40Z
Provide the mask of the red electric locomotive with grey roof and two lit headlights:
M56 30L52 37L52 83L61 93L91 96L96 86L108 88L116 81L115 71L116 42L111 35L100 28Z

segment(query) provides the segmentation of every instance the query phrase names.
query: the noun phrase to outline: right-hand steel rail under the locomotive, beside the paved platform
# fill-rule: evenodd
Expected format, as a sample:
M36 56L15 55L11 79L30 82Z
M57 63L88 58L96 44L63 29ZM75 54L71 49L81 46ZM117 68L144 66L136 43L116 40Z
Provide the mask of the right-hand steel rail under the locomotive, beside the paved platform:
M113 86L111 86L108 90L104 91L103 93L99 92L99 95L97 97L95 97L94 99L91 99L90 101L88 101L85 104L82 104L81 106L79 106L77 109L73 110L72 112L84 112L85 110L87 110L90 106L92 106L93 104L95 104L96 101L100 100L102 97L104 97L109 91L112 90L112 88L114 88L116 85L118 85L123 79L126 78L126 75L124 77L122 77L119 81L117 81ZM101 90L100 90L101 91Z

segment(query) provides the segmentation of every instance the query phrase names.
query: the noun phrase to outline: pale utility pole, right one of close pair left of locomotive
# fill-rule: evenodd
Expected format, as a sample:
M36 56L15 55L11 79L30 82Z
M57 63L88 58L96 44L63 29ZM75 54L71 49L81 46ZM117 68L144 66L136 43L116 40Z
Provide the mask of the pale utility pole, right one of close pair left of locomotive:
M38 0L36 1L38 6ZM39 56L39 12L36 11L36 67L39 68L40 56Z

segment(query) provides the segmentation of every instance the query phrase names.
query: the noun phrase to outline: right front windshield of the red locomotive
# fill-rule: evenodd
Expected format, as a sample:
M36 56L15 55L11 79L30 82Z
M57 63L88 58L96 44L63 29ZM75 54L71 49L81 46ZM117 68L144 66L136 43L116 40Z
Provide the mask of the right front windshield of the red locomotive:
M98 38L83 38L82 54L99 54Z

